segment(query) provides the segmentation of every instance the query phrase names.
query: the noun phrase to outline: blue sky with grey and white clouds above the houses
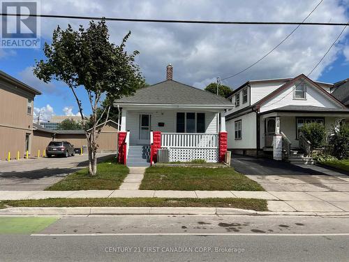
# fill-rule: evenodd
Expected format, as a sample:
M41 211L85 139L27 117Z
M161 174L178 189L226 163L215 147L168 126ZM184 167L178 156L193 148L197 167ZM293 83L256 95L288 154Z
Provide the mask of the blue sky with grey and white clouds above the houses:
M320 1L320 0L319 0ZM164 18L188 20L300 21L319 2L271 0L249 1L41 1L41 13L94 15L110 17ZM195 10L195 12L193 12ZM323 1L309 17L309 22L348 22L348 0ZM52 37L57 24L68 22L77 28L87 21L41 20L41 42ZM131 30L128 50L139 50L138 63L149 84L165 79L165 66L174 66L174 80L203 88L216 79L225 78L252 64L271 50L294 27L247 27L188 24L135 24L109 22L110 39L119 44ZM242 82L262 78L294 77L307 74L320 60L343 27L301 26L269 57L236 78L224 82L238 87ZM0 69L39 89L36 112L51 115L75 115L77 105L68 87L59 82L45 85L32 74L35 59L43 59L41 49L2 49ZM349 78L349 28L340 42L311 75L313 80L337 82ZM77 91L84 112L91 112L84 89Z

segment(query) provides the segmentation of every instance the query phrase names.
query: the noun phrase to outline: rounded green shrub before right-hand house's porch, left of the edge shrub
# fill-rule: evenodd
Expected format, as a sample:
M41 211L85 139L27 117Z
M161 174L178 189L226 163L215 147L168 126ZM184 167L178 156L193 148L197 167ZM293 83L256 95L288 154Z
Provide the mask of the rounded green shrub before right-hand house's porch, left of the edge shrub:
M311 149L323 147L326 142L325 126L319 123L304 124L300 129L304 138L310 141Z

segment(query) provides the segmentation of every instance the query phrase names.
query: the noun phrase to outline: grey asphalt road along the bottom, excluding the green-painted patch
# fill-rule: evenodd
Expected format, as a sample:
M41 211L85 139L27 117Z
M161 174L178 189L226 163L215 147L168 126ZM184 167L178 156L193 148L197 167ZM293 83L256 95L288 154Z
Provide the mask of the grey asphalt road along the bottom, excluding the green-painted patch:
M348 261L349 234L340 235L349 233L348 219L64 217L41 231L43 235L0 235L0 257L1 261Z

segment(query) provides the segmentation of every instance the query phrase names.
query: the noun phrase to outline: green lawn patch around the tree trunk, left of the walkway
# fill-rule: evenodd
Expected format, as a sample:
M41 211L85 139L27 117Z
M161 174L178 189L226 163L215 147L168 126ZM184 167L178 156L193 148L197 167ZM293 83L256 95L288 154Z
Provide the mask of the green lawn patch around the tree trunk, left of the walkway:
M119 189L120 184L128 174L128 167L117 163L116 159L110 159L97 164L97 175L91 176L87 168L70 174L47 187L45 190L112 190Z

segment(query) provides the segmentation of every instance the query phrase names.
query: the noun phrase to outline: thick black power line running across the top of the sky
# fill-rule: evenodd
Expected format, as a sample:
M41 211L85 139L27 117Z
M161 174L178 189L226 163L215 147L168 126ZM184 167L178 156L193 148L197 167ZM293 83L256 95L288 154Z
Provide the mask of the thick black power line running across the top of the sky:
M22 16L20 13L0 13L0 16ZM172 24L237 24L237 25L292 25L303 24L309 26L341 26L348 23L330 23L330 22L253 22L253 21L211 21L211 20L163 20L163 19L137 19L137 18L121 18L121 17L94 17L94 16L77 16L77 15L42 15L42 14L26 14L26 17L43 17L43 18L64 18L77 20L105 20L119 22L148 22L148 23L172 23Z

